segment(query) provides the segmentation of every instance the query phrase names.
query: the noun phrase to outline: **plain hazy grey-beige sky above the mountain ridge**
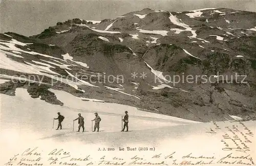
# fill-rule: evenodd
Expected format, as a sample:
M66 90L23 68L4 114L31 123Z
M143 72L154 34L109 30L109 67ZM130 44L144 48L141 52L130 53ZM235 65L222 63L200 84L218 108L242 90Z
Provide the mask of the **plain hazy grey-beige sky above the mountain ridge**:
M102 20L131 11L151 8L189 11L202 8L231 8L256 12L255 0L84 0L84 1L13 1L0 0L0 33L25 36L41 33L49 26L68 19Z

